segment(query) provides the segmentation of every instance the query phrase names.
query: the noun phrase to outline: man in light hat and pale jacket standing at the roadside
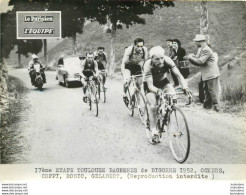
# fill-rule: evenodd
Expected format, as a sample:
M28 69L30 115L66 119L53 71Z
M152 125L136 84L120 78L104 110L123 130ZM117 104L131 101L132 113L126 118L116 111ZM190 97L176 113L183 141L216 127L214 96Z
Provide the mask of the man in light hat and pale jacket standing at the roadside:
M203 107L207 109L213 108L215 111L218 112L220 110L220 73L218 67L218 57L207 45L205 35L197 34L194 41L199 51L197 55L189 54L186 59L188 59L191 64L195 66L200 66L201 68L201 76L205 96Z

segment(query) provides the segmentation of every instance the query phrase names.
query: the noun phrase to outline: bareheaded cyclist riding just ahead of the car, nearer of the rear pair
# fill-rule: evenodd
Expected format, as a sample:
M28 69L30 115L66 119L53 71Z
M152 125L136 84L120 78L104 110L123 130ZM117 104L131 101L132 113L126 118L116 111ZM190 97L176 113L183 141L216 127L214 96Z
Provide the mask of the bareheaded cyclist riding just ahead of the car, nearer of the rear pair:
M81 83L83 85L83 92L84 92L83 101L86 103L87 102L87 97L86 97L87 82L86 80L90 76L97 77L99 75L98 64L94 60L93 52L86 53L86 58L81 62L81 69L82 69Z

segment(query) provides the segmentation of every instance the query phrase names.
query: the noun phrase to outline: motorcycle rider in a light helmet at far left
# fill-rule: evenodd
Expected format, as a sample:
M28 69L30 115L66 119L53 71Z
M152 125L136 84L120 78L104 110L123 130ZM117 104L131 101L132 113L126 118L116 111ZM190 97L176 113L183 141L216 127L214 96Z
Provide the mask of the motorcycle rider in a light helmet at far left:
M32 85L35 85L35 75L36 75L36 72L34 70L34 65L35 64L39 64L40 65L40 74L41 74L41 77L43 78L43 82L46 83L46 77L45 77L45 73L44 73L44 69L43 69L45 67L40 62L38 56L36 54L33 54L32 55L32 60L28 64L28 71L29 71L29 75L30 75L30 78L31 78Z

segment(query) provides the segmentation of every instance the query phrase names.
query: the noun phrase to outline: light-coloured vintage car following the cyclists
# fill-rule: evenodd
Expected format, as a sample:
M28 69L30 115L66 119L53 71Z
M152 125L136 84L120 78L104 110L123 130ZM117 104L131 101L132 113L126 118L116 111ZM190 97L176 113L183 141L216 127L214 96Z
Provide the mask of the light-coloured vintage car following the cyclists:
M56 79L59 84L70 87L72 83L80 83L81 60L83 57L67 57L58 60Z

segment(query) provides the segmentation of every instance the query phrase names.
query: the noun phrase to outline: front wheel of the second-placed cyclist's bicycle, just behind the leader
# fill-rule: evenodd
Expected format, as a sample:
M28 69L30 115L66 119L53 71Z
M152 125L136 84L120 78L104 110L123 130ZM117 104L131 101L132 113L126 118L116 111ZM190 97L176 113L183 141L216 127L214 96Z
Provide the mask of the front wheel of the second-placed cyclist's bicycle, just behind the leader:
M135 100L136 100L138 115L142 123L146 125L148 120L148 110L143 94L141 92L136 93Z

